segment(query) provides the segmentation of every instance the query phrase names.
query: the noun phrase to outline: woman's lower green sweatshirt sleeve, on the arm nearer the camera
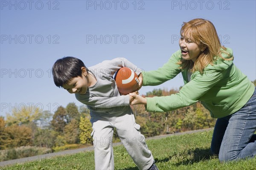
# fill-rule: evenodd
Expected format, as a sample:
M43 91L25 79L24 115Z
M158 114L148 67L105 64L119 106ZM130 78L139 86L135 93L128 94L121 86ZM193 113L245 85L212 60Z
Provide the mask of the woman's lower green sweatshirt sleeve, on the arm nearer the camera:
M205 70L204 74L196 71L192 80L184 85L180 92L170 96L152 97L147 99L146 110L152 112L173 111L192 105L218 83L224 76L221 70ZM218 88L218 87L216 87Z

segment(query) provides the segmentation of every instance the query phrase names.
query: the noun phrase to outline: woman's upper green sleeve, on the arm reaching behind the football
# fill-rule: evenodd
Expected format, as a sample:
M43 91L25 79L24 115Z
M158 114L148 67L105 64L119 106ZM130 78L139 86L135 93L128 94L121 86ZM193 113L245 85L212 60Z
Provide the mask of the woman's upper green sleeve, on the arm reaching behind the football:
M180 50L172 54L168 62L166 62L161 68L154 71L143 71L143 86L147 85L160 85L167 80L173 79L180 73L180 65L177 62L180 61Z

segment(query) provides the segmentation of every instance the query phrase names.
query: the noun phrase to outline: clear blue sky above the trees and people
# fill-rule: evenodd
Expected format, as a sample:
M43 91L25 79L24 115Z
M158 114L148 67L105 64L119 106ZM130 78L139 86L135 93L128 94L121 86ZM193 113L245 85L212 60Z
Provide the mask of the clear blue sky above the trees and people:
M52 113L69 102L82 105L53 83L52 65L64 56L86 66L125 57L145 71L161 67L179 49L181 24L194 18L212 21L235 65L256 79L255 0L1 0L1 115L23 105ZM140 94L181 85L180 74Z

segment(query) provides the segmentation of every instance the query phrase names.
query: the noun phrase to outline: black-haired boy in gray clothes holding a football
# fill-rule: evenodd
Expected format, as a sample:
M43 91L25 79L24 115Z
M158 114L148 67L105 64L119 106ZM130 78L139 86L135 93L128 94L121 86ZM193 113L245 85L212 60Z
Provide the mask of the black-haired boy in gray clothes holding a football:
M125 58L106 60L86 68L75 57L58 59L52 67L52 74L56 86L75 93L76 99L90 109L96 170L114 169L114 127L139 170L158 170L129 105L133 97L120 95L113 79L113 74L122 67L140 74L140 69Z

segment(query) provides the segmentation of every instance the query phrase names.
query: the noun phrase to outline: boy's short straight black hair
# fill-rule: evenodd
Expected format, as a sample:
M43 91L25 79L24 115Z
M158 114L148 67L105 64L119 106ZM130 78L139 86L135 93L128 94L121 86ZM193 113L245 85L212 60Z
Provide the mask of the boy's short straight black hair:
M52 75L55 85L60 88L73 78L81 77L82 67L85 67L84 62L76 57L63 57L58 59L52 66ZM87 68L86 70L88 71Z

